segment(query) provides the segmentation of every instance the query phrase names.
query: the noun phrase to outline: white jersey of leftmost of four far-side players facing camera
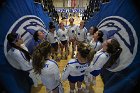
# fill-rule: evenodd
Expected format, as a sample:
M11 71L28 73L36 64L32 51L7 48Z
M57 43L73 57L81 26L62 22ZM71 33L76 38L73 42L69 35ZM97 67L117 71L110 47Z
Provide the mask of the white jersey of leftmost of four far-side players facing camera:
M48 32L47 41L51 44L58 42L58 36L56 35L56 31L54 31L54 33Z

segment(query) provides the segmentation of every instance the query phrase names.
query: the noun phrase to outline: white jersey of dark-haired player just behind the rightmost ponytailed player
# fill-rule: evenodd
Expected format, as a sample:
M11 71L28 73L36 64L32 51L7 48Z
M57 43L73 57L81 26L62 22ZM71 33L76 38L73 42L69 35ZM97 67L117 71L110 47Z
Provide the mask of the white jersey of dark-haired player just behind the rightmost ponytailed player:
M89 44L95 51L99 51L102 48L102 43L100 41L95 42L94 39Z

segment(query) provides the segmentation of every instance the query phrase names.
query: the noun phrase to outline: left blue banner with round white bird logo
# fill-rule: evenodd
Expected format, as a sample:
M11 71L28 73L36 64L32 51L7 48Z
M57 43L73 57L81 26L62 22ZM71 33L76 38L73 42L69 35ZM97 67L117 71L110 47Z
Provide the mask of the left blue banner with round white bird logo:
M6 59L9 50L6 35L19 33L27 44L32 38L28 31L47 29L50 18L34 0L4 0L0 5L0 85L7 93L30 93L32 82L27 73L14 69Z

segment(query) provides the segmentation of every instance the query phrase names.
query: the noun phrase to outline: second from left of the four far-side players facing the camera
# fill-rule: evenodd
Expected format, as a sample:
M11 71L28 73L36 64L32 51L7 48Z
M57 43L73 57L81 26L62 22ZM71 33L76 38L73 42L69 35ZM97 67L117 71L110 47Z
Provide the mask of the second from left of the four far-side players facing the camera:
M61 22L59 24L59 29L57 31L59 40L60 40L60 48L61 48L61 56L63 56L63 49L65 48L65 59L67 59L68 56L68 30L64 27L64 23Z

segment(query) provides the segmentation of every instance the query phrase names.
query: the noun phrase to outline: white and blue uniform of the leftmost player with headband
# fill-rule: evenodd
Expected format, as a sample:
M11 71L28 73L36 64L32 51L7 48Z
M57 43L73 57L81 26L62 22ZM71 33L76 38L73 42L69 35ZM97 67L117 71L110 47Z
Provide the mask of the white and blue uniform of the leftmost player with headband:
M27 47L24 44L21 44L21 47L28 51ZM38 74L34 73L32 69L32 60L30 62L26 59L24 53L19 51L18 49L11 48L7 54L7 58L9 63L16 69L20 69L23 71L28 71L30 78L32 78L34 82L34 86L37 87L38 81L40 81L40 77Z

